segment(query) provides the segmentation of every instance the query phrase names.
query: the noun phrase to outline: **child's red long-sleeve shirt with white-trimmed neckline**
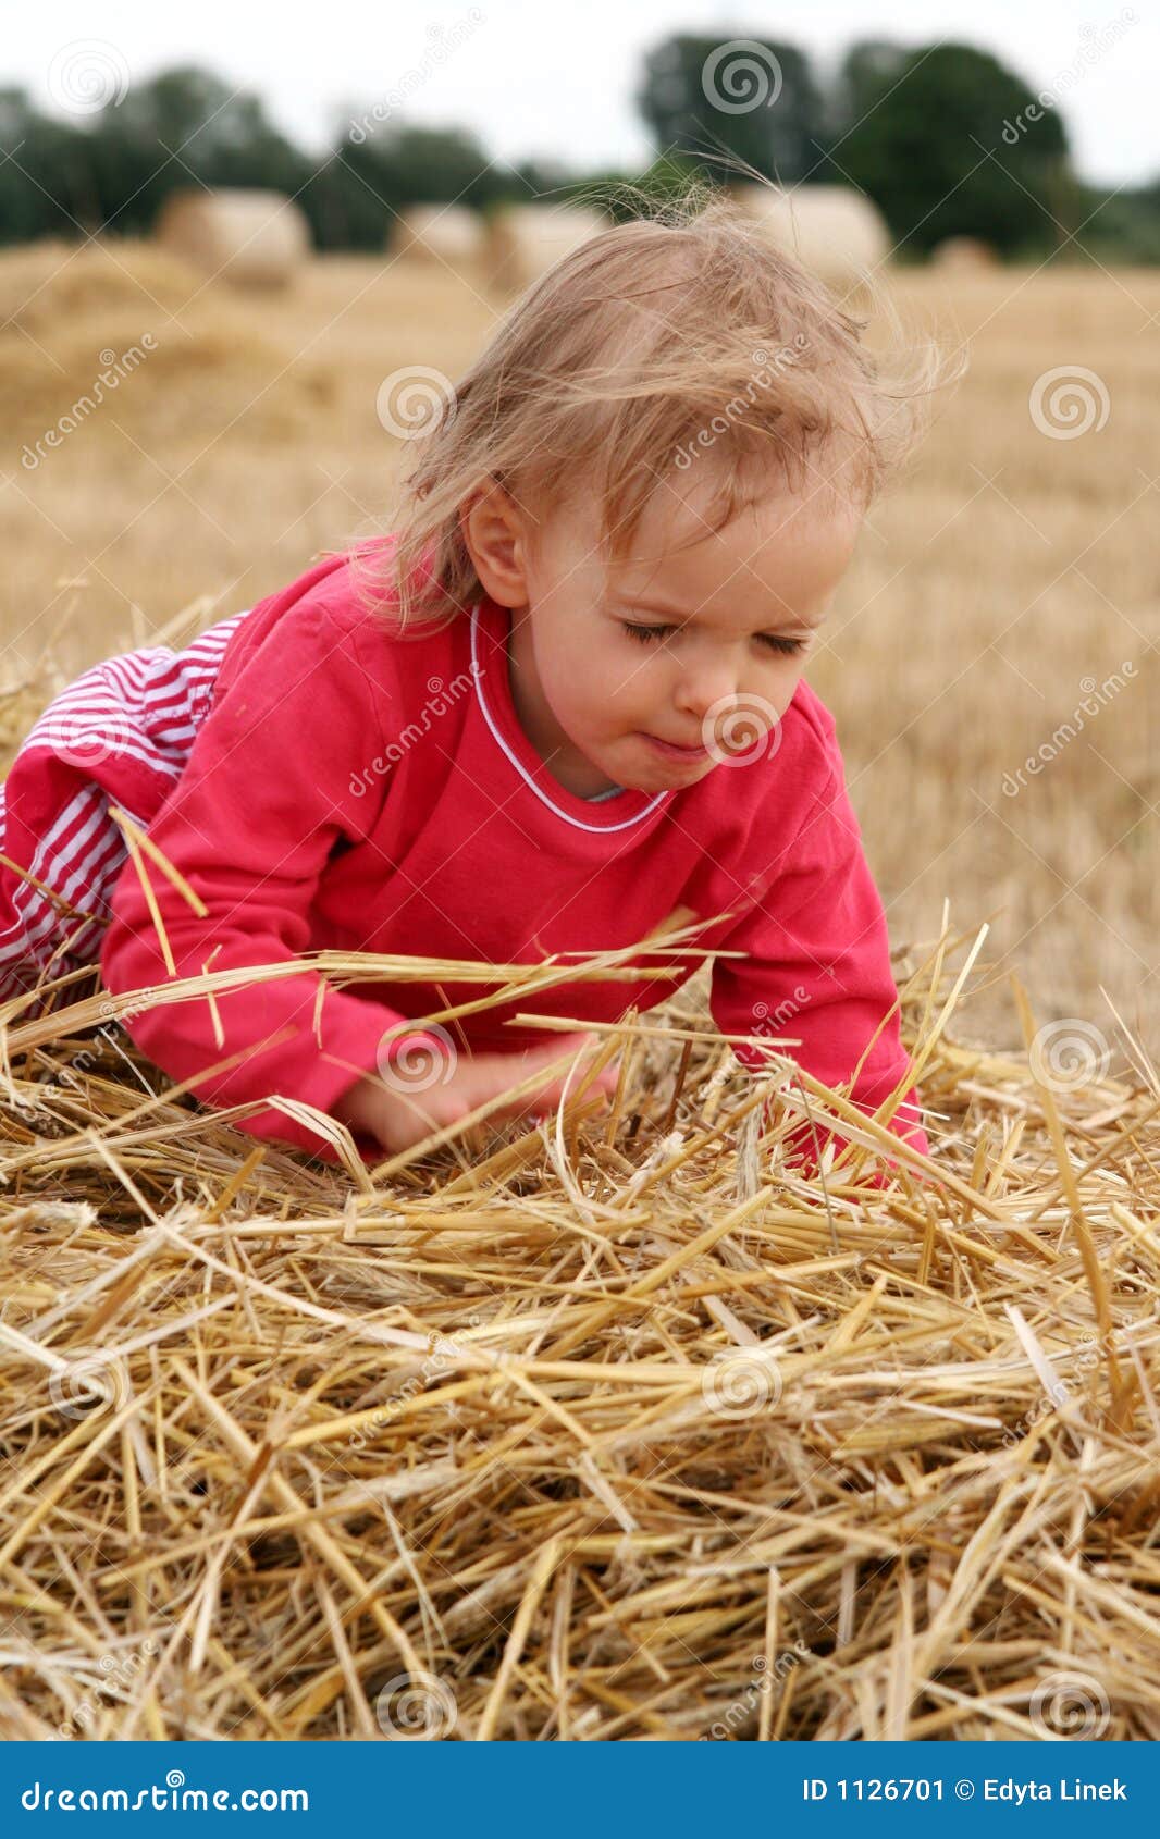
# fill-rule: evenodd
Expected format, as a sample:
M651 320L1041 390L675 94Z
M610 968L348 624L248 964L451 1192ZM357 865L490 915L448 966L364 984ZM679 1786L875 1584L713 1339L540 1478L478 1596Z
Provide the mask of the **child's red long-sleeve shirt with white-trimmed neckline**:
M176 975L313 949L539 962L631 945L677 908L728 912L697 934L699 947L745 953L715 960L717 1026L800 1039L779 1052L827 1085L866 1056L851 1096L873 1111L908 1081L910 1061L897 1011L881 1026L897 999L886 918L824 702L802 680L774 750L684 789L586 800L552 778L518 725L507 631L507 611L483 598L441 631L403 638L357 600L349 555L329 555L239 622L184 771L149 822L206 907L199 916L167 875L149 874ZM640 958L640 980L572 982L467 1015L452 1034L472 1052L542 1046L542 1030L506 1017L616 1021L695 969L680 960L677 977L658 978L647 975L656 954ZM101 971L112 993L169 978L132 862L114 885ZM313 971L296 973L213 1004L131 1011L125 1026L171 1078L202 1076L193 1089L208 1103L281 1094L338 1113L381 1067L390 1026L482 993L327 982L316 1010L318 989ZM768 1065L761 1048L737 1056ZM910 1087L892 1129L927 1153L919 1120ZM241 1127L335 1159L279 1109ZM805 1127L792 1144L811 1166Z

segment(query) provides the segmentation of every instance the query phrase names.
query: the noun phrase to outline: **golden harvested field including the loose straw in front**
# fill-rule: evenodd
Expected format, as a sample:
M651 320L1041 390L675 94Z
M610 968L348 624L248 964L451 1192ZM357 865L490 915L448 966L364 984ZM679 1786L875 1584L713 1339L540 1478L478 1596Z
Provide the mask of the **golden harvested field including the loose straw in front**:
M504 305L360 259L252 305L114 256L88 314L88 256L0 259L0 390L35 403L4 760L72 671L375 528L382 379L454 377ZM132 287L156 353L24 465L149 329ZM807 1081L851 1148L787 1173L802 1102L759 1135L778 1074L704 973L608 1034L610 1107L375 1170L169 1091L88 978L7 1004L0 1734L1160 1736L1160 281L899 291L972 368L811 677L932 1159L888 1179ZM1075 364L1109 416L1061 438L1029 399Z

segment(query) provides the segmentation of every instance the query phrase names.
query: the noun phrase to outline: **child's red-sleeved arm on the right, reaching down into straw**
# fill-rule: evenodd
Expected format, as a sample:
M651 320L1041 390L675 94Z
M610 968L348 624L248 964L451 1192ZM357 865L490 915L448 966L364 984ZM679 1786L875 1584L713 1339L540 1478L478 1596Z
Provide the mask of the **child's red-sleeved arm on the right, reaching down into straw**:
M910 1072L901 1043L890 969L886 914L862 833L849 804L840 765L818 794L805 822L768 877L759 905L721 943L748 958L719 958L713 965L711 1008L722 1032L785 1035L783 1046L816 1079L838 1087L855 1074L853 1102L873 1111ZM754 1068L772 1065L761 1048L735 1048ZM820 1124L802 1122L785 1138L787 1153L816 1171L818 1151L833 1138ZM930 1153L914 1085L904 1092L890 1129L923 1155Z

